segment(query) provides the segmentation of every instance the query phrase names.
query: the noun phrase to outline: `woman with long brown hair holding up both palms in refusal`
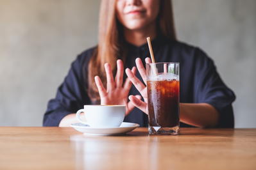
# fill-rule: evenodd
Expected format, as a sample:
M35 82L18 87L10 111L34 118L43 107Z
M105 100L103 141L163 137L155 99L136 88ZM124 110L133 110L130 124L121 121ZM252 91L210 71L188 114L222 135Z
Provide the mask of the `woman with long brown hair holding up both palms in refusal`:
M148 36L155 62L180 63L180 126L234 127L234 93L221 81L214 63L204 52L176 41L168 0L101 2L98 46L74 61L56 98L49 101L44 126L69 126L76 122L74 112L85 104L124 104L124 121L147 127L146 86L134 61L138 58L137 68L144 79ZM130 78L125 81L124 68L128 68L126 74Z

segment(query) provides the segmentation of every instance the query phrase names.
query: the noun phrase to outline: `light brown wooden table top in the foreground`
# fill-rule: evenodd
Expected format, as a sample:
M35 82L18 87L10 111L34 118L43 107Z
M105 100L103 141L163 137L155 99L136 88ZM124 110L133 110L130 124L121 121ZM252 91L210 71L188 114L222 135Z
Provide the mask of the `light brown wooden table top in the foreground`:
M72 127L0 127L0 169L256 169L256 128L89 136Z

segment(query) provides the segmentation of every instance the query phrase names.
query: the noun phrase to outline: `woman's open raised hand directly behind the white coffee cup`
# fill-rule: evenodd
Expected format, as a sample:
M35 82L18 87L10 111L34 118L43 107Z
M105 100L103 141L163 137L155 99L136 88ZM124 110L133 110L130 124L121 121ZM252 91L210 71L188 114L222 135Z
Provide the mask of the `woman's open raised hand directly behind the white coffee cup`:
M132 87L132 82L127 78L123 84L123 61L121 61L121 59L117 60L117 73L115 75L115 80L108 63L105 64L105 71L107 74L107 90L104 88L99 76L95 76L94 78L99 90L101 105L126 105L126 115L129 114L135 105L128 102L128 93ZM133 67L130 72L133 73L133 75L136 74L136 68ZM136 95L135 98L141 100L140 95Z

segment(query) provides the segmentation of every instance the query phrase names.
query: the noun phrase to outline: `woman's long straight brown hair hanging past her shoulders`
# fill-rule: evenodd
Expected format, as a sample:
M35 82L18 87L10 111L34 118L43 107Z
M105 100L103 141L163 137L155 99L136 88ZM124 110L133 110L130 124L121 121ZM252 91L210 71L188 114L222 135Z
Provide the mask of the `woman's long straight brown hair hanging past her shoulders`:
M125 47L122 45L123 27L115 17L115 1L102 0L99 12L99 42L98 47L92 54L87 70L86 89L88 95L94 104L100 103L98 88L94 77L98 75L107 86L107 77L105 73L105 63L109 63L112 73L115 76L117 69L117 59L125 58ZM171 0L160 1L160 10L157 17L157 28L162 35L171 40L176 40L175 26L173 20L173 10Z

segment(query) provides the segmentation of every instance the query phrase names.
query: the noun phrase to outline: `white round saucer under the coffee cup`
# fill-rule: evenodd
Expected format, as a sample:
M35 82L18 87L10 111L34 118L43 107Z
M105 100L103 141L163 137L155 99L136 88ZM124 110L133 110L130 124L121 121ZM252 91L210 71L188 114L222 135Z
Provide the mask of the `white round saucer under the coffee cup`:
M120 127L112 128L91 128L89 125L84 125L82 123L71 124L71 127L78 130L79 132L83 132L85 135L123 135L139 126L140 125L137 123L128 122L123 122Z

